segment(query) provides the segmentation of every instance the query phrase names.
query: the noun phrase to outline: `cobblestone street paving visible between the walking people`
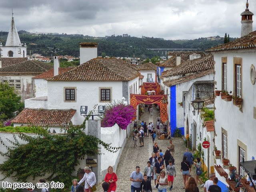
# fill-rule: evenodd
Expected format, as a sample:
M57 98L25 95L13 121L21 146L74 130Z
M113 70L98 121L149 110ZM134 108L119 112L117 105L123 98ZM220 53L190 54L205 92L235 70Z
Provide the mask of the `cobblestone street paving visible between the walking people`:
M141 116L141 120L144 120L148 124L150 121L153 122L154 127L156 128L156 117L159 117L159 111L153 106L153 116L150 116L150 113L144 112ZM116 182L117 188L116 192L130 192L131 191L131 181L130 175L133 171L135 171L136 166L140 166L140 171L143 172L144 168L147 166L147 161L151 157L151 153L153 151L153 142L152 137L144 137L144 147L134 148L134 141L132 140L132 136L128 138L122 155L120 157L120 161L118 163L116 169L116 175L118 177L118 181ZM185 192L183 183L182 172L180 171L180 162L182 161L183 154L186 150L186 146L184 145L184 140L182 138L171 138L175 145L175 168L176 168L176 178L174 178L172 191L182 191ZM158 140L158 136L155 139L155 142L158 142L158 146L162 149L163 153L167 150L167 146L170 146L169 140L165 138L165 140ZM138 143L139 144L139 143ZM140 146L140 144L139 144ZM166 168L164 169L166 171ZM193 166L191 175L195 176L195 168ZM157 192L157 188L154 187L154 180L151 181L153 192ZM167 186L168 187L168 186ZM204 191L204 187L200 188L200 192ZM102 191L101 184L97 186L97 191ZM169 188L167 189L169 191Z

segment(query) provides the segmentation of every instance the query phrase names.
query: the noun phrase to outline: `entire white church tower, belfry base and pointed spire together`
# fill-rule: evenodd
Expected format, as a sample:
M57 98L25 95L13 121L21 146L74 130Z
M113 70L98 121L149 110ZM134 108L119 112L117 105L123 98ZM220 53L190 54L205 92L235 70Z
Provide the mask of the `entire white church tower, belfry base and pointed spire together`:
M18 31L14 24L14 18L12 17L11 26L9 29L8 37L5 46L0 43L0 56L2 58L13 57L22 58L27 57L26 43L22 46Z

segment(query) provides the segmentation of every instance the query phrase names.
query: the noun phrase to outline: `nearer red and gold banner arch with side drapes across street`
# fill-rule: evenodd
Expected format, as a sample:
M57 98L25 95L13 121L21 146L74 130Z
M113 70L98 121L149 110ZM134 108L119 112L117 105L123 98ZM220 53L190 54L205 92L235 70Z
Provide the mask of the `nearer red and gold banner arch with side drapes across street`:
M168 120L167 114L167 103L163 103L162 99L167 98L166 95L138 95L138 94L130 94L130 105L137 108L137 105L140 103L144 104L158 104L160 107L160 118L162 122L166 122ZM134 112L134 118L136 119L136 111Z

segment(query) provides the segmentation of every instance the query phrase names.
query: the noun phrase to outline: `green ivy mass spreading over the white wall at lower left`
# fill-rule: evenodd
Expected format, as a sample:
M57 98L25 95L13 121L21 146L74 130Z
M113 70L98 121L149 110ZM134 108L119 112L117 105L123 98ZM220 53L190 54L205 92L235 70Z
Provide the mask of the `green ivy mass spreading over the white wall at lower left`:
M11 177L16 182L26 182L32 176L33 179L41 177L48 181L71 184L76 177L73 173L77 171L75 166L79 164L79 160L83 160L85 155L101 154L98 144L109 152L120 149L95 136L86 135L84 124L85 122L81 126L65 128L66 134L49 134L47 129L40 127L32 127L36 136L19 131L18 137L27 143L20 144L13 134L15 142L9 142L14 147L8 147L0 137L0 142L8 149L6 153L0 152L2 156L8 157L0 165L0 172L4 175L2 180Z

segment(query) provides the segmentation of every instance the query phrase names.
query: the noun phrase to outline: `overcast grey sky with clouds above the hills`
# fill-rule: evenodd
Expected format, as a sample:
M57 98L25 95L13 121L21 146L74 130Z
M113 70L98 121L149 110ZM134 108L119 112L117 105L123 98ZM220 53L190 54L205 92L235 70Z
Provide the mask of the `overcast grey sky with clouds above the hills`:
M256 0L248 0L256 18ZM240 37L246 0L1 0L0 30L166 40ZM256 30L256 20L253 23Z

